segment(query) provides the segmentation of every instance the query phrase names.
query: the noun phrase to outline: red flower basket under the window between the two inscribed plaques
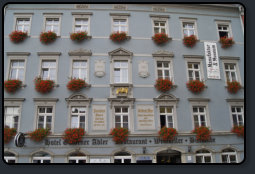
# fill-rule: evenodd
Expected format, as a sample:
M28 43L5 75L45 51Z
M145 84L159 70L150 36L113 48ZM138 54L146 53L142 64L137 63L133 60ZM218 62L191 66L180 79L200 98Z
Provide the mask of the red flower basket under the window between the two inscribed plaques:
M111 130L110 135L113 136L112 140L116 144L121 144L128 139L129 131L126 128L114 128Z

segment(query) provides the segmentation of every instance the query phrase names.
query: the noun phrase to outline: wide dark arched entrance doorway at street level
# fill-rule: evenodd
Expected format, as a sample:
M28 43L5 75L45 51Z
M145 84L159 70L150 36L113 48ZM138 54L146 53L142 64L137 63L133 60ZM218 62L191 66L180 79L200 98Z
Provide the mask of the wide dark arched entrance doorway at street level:
M158 152L157 163L181 163L181 152L176 150L164 150Z

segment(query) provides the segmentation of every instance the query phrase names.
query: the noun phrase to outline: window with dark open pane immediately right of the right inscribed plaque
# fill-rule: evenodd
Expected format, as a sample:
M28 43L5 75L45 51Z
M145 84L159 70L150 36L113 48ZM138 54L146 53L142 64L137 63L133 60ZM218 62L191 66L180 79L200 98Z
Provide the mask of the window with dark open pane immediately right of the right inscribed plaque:
M160 110L160 126L161 126L161 128L163 128L163 127L174 128L173 107L171 107L171 106L167 106L167 107L161 106L159 108L159 110Z

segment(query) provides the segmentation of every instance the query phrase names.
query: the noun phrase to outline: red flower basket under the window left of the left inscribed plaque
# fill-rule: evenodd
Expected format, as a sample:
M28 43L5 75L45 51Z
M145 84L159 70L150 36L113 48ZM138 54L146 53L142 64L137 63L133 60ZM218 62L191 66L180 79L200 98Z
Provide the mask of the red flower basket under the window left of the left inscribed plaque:
M68 144L75 144L81 141L85 133L83 128L68 128L65 130L63 139Z

